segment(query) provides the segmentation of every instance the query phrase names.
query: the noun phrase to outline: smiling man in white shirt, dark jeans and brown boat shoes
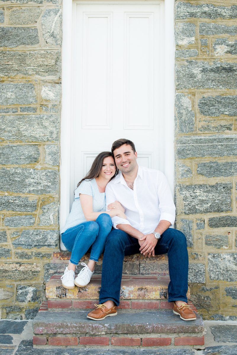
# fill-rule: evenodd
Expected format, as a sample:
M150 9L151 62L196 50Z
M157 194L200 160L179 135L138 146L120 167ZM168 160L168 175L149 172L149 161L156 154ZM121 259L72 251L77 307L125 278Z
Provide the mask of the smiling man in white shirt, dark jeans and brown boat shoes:
M87 317L102 320L117 314L123 258L140 252L148 257L168 254L168 295L169 302L174 302L173 312L185 321L195 320L196 315L187 305L186 296L186 237L169 228L175 222L175 205L165 175L138 166L134 143L129 140L115 141L111 150L120 173L106 186L106 203L111 209L119 201L125 208L127 219L112 218L114 229L105 244L100 304Z

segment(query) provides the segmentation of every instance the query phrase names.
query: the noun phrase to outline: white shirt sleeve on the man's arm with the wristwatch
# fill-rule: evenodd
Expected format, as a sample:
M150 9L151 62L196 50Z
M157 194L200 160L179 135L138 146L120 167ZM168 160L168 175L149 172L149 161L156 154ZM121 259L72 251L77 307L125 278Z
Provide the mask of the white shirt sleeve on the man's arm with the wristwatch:
M169 183L163 173L158 174L158 198L160 209L160 220L167 220L172 224L175 223L175 204L170 190Z

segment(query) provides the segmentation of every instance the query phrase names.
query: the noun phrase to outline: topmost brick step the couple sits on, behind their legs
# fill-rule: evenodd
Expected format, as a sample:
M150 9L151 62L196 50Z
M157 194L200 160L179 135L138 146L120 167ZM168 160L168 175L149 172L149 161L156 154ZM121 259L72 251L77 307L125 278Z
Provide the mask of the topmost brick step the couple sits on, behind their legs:
M52 274L62 274L65 266L67 266L71 253L68 251L60 251L53 253L53 260L50 263L50 272ZM81 262L86 262L89 259L89 253L83 256ZM98 263L95 265L95 274L101 274L102 272L103 255L99 258ZM82 268L78 266L78 271ZM52 275L51 274L51 275ZM123 274L129 275L169 275L168 258L167 254L156 255L155 257L145 257L142 254L134 254L125 256L123 261ZM46 276L47 277L47 276Z

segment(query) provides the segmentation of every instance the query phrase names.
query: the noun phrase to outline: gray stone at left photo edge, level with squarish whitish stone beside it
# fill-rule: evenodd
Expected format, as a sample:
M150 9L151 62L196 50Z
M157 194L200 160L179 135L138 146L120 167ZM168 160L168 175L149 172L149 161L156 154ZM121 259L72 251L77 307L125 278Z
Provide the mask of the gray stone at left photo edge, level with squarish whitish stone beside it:
M27 105L36 102L37 100L33 84L0 83L0 105Z

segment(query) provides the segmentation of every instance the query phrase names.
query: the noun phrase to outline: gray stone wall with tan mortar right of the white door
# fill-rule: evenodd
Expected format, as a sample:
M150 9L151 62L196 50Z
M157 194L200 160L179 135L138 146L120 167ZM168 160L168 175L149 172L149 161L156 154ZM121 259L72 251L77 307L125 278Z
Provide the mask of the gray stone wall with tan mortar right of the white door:
M175 1L177 228L204 318L237 320L237 6Z

